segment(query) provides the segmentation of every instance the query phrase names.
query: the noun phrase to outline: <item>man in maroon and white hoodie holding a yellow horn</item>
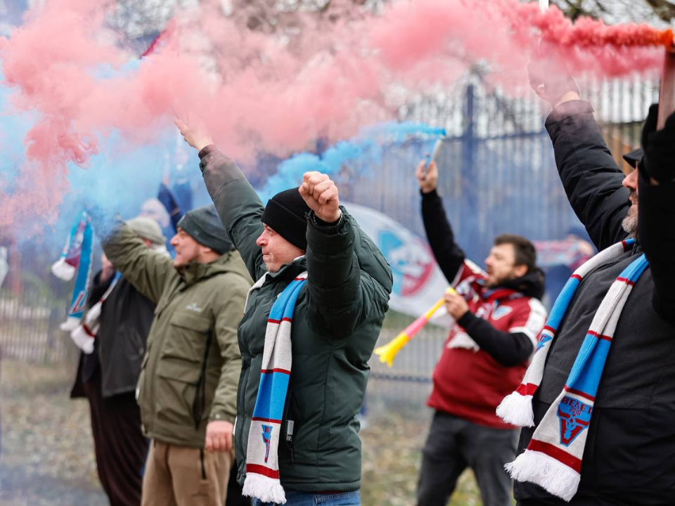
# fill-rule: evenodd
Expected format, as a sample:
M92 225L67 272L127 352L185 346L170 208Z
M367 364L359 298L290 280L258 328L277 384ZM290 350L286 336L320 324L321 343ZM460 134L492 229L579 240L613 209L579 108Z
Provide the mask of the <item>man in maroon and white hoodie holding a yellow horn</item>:
M471 467L484 506L509 506L511 484L503 466L515 458L518 431L495 410L520 384L544 327L544 274L535 265L534 246L519 235L495 238L487 272L466 259L436 192L436 164L426 168L420 162L417 178L429 244L457 292L445 296L456 323L434 370L428 406L435 414L417 502L446 506L459 475Z

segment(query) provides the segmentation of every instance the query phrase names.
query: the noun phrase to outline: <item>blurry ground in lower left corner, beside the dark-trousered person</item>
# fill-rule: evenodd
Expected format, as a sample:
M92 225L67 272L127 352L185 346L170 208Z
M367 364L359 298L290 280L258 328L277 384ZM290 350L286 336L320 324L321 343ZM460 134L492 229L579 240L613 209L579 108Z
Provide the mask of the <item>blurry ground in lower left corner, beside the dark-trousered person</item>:
M89 406L68 398L75 367L0 363L0 504L107 505Z

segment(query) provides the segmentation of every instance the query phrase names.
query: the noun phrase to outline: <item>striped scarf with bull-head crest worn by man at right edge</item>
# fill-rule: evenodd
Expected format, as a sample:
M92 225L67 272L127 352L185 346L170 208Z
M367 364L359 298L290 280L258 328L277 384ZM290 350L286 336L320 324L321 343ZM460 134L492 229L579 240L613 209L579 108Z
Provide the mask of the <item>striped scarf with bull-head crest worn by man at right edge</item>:
M551 343L581 280L605 261L628 251L633 244L634 240L626 240L604 249L567 280L539 335L534 358L522 383L497 408L497 415L504 421L521 427L534 426L532 396L541 383ZM577 493L581 458L588 437L586 429L591 422L605 360L624 304L647 266L648 261L643 254L627 266L610 286L581 344L565 388L548 408L525 452L506 465L513 479L530 481L566 501Z

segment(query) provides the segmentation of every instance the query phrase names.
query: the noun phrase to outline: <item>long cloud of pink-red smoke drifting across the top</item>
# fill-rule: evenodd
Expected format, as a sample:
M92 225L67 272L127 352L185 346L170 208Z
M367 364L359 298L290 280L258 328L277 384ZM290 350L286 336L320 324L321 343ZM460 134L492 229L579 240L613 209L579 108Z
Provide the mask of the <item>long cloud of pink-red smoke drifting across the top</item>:
M236 27L214 5L176 16L136 70L89 0L48 0L9 39L0 39L15 112L37 114L25 138L27 162L0 177L0 227L20 217L53 223L68 193L68 162L86 167L99 141L119 131L151 143L177 114L203 117L231 156L304 150L321 135L345 138L391 119L393 83L424 92L453 84L468 65L487 63L491 82L527 82L529 55L544 39L573 72L622 76L660 68L672 32L646 25L572 24L557 8L517 0L417 0L383 15L333 23L300 16L290 42ZM212 48L214 79L198 55ZM207 51L208 52L208 51ZM101 77L104 72L113 77ZM101 153L114 157L114 153ZM7 196L9 188L11 195Z

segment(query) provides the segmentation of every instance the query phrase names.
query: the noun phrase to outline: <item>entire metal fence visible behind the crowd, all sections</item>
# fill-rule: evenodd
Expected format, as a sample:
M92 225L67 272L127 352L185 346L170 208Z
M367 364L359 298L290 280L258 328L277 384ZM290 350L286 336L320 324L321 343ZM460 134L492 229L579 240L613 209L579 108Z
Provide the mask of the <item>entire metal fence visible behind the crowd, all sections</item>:
M655 82L641 80L581 82L584 98L593 103L610 150L617 161L638 143L641 121L657 98ZM551 141L544 129L546 112L532 93L509 98L473 77L442 96L442 103L401 112L401 119L444 126L448 137L438 158L439 192L468 257L482 264L499 233L532 240L563 238L578 221L563 193L555 170ZM428 144L426 145L428 148ZM420 197L414 176L425 144L410 141L385 150L381 163L345 167L340 195L373 207L424 236ZM56 361L68 358L73 346L58 323L63 304L34 292L21 297L0 294L0 346L6 358ZM399 325L402 329L404 323ZM383 329L380 344L398 327ZM429 327L400 353L394 368L371 361L374 384L394 396L428 390L446 330ZM402 384L406 387L403 388Z

